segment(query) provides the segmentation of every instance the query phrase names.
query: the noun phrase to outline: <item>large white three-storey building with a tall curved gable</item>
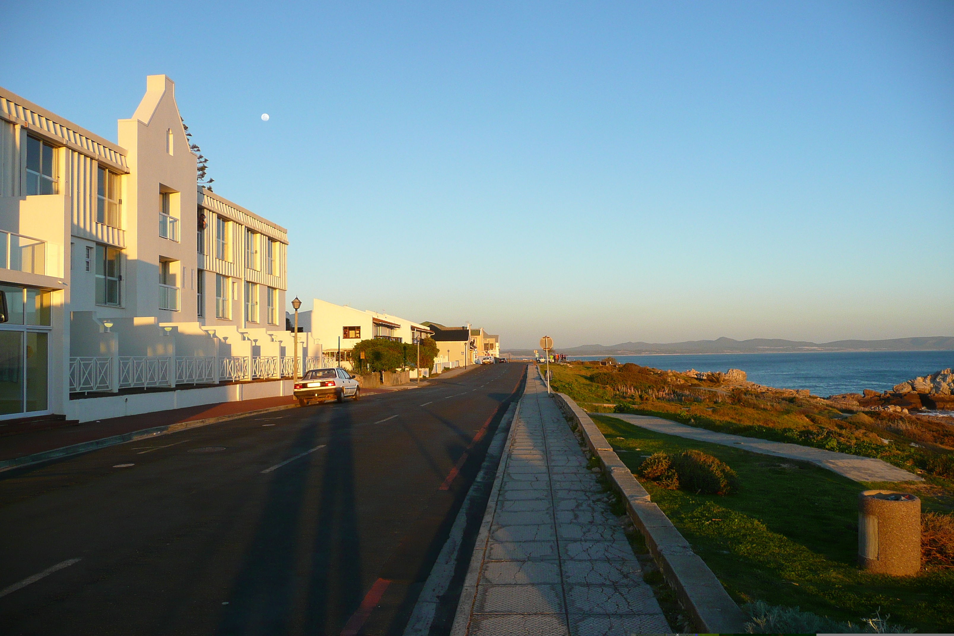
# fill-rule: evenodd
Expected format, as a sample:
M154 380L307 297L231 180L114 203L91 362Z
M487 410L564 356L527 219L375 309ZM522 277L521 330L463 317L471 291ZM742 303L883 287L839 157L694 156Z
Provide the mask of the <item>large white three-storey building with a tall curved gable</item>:
M118 144L0 88L0 420L288 391L287 231L196 168L165 75Z

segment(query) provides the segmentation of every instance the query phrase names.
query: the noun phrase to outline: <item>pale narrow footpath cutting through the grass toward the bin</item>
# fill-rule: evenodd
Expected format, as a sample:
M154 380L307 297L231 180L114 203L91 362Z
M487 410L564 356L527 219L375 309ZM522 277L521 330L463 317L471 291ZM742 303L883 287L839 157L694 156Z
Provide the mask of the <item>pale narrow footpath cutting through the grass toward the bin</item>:
M675 435L689 440L709 441L723 446L741 448L753 453L761 453L762 455L783 457L788 460L812 462L856 482L923 482L923 479L917 475L877 458L836 453L823 448L800 446L783 441L759 440L758 438L746 438L730 433L717 433L705 428L696 428L695 426L646 415L626 413L594 413L593 415L603 415L628 421L656 433Z

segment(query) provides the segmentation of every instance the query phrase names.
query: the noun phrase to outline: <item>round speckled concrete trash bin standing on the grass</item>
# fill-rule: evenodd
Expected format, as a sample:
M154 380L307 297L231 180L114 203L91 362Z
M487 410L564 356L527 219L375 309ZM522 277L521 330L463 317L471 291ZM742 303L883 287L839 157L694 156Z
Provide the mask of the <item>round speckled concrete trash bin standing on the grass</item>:
M876 574L910 576L921 569L921 500L894 490L858 496L858 564Z

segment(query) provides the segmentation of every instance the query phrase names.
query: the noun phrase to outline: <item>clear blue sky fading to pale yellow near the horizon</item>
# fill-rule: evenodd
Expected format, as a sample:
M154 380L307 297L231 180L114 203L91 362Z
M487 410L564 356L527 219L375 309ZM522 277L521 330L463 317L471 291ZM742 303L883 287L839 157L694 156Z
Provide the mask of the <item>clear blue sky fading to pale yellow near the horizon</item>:
M289 229L289 298L505 348L954 335L951 2L41 2L2 23L0 84L107 138L172 77L216 192Z

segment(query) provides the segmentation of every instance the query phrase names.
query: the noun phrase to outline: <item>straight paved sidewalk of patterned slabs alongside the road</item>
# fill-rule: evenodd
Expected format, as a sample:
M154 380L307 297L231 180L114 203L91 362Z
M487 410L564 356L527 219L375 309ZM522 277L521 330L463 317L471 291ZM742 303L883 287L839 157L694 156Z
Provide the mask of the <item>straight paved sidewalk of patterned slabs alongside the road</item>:
M530 369L451 633L672 631L607 501Z

